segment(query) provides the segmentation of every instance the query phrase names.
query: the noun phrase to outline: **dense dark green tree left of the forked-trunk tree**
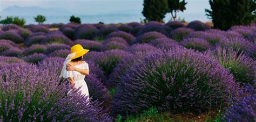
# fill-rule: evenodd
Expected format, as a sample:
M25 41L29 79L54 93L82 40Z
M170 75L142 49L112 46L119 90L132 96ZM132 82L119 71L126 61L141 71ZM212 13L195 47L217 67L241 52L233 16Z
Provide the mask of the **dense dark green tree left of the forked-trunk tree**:
M167 0L144 0L143 16L146 21L163 22L166 13L168 12Z

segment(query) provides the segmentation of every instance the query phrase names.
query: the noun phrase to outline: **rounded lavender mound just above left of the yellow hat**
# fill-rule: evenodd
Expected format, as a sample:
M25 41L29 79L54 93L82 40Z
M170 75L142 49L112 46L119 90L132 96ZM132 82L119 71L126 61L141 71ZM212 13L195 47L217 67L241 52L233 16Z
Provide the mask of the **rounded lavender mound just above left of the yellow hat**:
M42 44L66 44L66 45L72 45L73 42L67 38L65 35L59 35L59 34L50 34L47 35L44 40L42 41Z

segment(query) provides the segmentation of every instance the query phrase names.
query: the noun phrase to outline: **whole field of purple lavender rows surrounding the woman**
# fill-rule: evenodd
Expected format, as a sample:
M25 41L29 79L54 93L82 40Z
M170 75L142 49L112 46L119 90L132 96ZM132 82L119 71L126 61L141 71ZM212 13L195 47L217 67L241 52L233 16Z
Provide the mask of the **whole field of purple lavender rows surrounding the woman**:
M90 101L58 77L75 44L90 49ZM255 59L255 23L10 24L0 121L256 121Z

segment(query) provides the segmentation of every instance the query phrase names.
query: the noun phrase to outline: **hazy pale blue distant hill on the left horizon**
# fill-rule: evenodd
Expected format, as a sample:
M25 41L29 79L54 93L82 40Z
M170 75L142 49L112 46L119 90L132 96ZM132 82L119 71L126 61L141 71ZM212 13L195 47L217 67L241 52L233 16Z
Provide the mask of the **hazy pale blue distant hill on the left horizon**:
M0 11L1 16L64 16L73 13L63 8L40 8L38 6L10 6Z

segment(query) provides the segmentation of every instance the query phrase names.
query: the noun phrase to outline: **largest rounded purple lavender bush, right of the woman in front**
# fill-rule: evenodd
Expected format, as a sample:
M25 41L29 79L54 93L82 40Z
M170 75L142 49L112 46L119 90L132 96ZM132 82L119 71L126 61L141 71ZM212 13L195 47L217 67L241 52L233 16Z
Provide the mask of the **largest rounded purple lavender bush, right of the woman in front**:
M237 89L239 84L218 62L199 52L175 48L145 56L130 67L118 84L112 110L124 117L149 106L159 112L202 112Z

